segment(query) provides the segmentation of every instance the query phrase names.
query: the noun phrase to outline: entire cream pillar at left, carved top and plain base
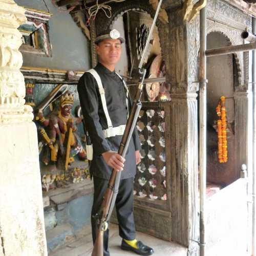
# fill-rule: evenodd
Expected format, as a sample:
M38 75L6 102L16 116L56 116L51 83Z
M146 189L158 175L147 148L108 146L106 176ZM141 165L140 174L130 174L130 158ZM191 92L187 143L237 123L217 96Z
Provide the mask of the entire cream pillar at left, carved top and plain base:
M0 255L47 255L36 126L19 71L25 9L0 0Z

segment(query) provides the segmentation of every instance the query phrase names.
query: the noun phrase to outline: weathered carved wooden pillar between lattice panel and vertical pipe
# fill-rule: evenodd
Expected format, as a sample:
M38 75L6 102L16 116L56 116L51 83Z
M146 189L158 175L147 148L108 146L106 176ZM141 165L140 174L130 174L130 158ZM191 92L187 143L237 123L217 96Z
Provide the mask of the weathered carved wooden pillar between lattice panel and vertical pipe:
M199 255L198 117L196 25L185 24L181 12L169 10L169 42L165 47L167 81L171 85L172 240Z

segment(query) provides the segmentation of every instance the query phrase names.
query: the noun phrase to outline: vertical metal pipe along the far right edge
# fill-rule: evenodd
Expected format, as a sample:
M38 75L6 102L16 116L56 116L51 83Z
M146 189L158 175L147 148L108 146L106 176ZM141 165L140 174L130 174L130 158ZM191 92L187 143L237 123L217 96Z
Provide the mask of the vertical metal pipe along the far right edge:
M256 19L252 18L252 32L256 32ZM252 255L256 256L256 52L252 51Z

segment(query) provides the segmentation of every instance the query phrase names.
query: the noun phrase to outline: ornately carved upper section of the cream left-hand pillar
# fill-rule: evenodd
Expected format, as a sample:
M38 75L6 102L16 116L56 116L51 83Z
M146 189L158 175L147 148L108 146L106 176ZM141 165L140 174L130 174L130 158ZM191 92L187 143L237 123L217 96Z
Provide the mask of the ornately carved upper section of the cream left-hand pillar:
M22 34L17 30L26 22L25 9L13 1L2 0L0 7L0 122L32 121L32 108L25 104L22 67Z

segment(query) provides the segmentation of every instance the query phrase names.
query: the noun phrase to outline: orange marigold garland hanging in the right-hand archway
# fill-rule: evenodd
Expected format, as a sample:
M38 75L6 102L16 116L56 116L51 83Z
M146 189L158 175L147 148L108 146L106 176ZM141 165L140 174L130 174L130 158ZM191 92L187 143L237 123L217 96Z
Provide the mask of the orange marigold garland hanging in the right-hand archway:
M227 123L226 123L226 107L225 97L222 96L216 108L218 117L218 159L220 163L227 162Z

